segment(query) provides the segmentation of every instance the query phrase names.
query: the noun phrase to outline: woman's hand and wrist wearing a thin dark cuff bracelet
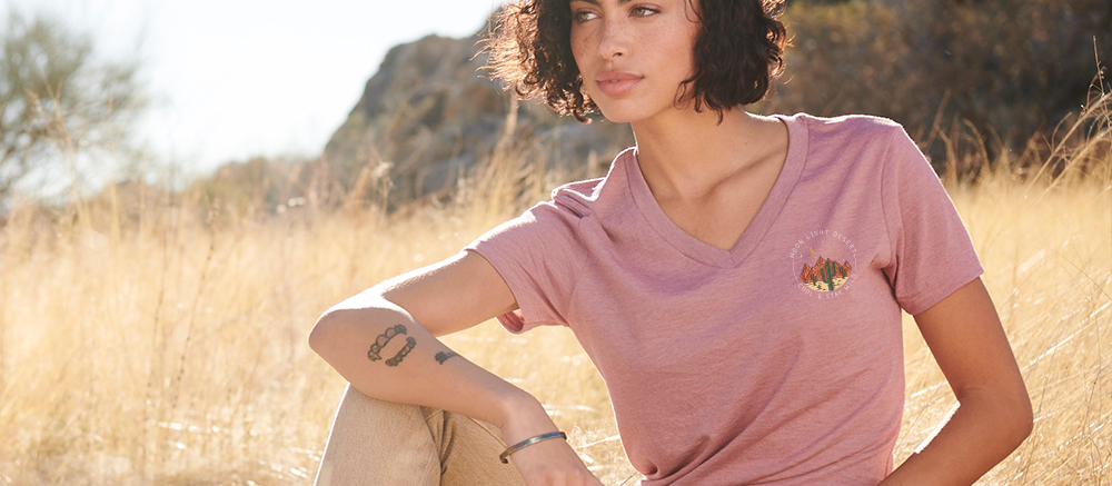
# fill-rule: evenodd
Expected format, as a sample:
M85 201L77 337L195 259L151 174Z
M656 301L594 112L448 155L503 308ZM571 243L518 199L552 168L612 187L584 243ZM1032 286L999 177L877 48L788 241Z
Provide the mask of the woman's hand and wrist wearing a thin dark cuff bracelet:
M544 407L527 394L508 408L502 427L502 437L513 445L540 434L556 432ZM587 470L566 440L549 439L529 445L509 456L527 486L602 486Z

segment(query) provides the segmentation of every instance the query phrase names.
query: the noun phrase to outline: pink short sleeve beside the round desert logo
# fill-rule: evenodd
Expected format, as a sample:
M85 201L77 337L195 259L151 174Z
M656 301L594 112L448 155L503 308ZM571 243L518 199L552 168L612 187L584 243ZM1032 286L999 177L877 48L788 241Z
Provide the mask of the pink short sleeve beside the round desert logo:
M939 176L902 128L892 133L882 184L893 255L884 272L900 306L916 315L984 269Z

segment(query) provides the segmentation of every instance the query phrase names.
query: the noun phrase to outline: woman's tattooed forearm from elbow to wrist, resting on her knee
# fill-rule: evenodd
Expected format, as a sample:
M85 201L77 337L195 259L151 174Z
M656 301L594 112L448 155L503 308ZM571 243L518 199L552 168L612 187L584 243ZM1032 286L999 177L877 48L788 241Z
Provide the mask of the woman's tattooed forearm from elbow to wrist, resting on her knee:
M363 394L459 413L503 427L544 415L530 395L457 356L403 308L365 292L325 313L309 346ZM528 421L543 425L544 417ZM550 428L550 420L547 427Z

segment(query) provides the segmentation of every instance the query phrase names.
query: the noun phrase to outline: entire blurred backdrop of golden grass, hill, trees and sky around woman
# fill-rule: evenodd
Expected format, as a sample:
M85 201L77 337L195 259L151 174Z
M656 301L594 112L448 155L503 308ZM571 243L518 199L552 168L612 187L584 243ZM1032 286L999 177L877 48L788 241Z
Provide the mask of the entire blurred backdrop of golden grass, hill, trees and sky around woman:
M305 344L319 313L633 143L488 80L496 8L0 0L0 485L310 484L345 385ZM786 73L751 109L903 123L973 237L1036 415L982 484L1109 484L1112 2L783 19ZM905 327L897 464L954 405ZM446 340L635 482L565 329Z

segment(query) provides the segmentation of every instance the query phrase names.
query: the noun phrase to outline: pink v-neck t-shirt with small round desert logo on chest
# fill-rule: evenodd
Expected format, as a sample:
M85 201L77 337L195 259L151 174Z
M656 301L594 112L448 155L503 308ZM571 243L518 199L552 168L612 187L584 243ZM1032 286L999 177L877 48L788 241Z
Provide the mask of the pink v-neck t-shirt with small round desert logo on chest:
M668 219L635 148L468 247L517 298L509 330L575 333L644 486L875 485L903 411L900 309L982 271L898 125L781 119L784 168L731 250Z

